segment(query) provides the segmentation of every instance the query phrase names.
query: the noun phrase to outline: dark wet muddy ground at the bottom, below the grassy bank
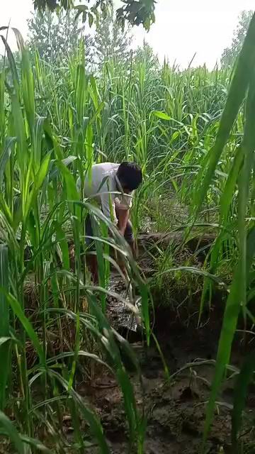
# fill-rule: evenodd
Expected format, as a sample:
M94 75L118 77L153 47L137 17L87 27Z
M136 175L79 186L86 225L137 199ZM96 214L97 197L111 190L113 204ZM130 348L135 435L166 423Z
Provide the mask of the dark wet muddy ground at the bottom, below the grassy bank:
M121 293L118 279L112 289ZM113 323L118 324L123 335L127 316L114 301L108 303L108 314ZM217 341L221 320L213 310L210 319L202 328L197 328L197 317L181 319L174 311L165 309L157 314L155 335L162 348L171 380L166 380L164 367L156 345L146 348L139 333L130 331L129 341L137 353L142 369L142 382L145 390L147 413L147 435L145 454L195 454L200 452L205 422L205 404L210 393L210 382L214 371ZM247 341L247 339L246 339ZM252 343L250 344L250 347ZM239 366L244 355L242 337L236 339L232 355L233 366ZM232 372L229 372L229 377ZM137 377L130 374L135 386L137 402L142 409L142 392ZM231 409L234 380L230 377L222 387L215 410L215 420L205 453L233 453L230 444ZM96 408L98 416L114 454L128 453L128 430L125 423L123 402L120 390L113 377L100 374L94 381L93 389L79 389L86 394ZM255 410L255 388L250 390L246 407L246 420L241 433L244 453L255 452L255 431L252 416ZM96 448L90 448L96 454Z

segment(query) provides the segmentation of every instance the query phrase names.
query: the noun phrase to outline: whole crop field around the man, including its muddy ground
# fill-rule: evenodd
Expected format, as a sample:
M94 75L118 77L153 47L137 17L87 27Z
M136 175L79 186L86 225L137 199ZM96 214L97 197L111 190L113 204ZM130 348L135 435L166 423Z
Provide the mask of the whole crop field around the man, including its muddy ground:
M255 18L232 72L144 52L89 74L82 45L50 65L15 33L20 59L2 37L0 74L0 452L254 452ZM144 175L137 262L77 192L91 165L122 160Z

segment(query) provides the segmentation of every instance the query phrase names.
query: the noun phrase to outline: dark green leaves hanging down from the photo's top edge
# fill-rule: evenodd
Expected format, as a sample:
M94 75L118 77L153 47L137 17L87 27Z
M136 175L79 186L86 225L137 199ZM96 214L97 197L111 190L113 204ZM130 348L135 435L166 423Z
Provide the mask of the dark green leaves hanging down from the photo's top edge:
M124 27L125 21L128 21L132 26L142 24L146 30L154 23L154 8L155 0L122 0L123 6L117 10L117 19ZM45 11L59 12L62 8L66 11L76 9L77 14L81 14L84 22L89 20L89 25L103 15L105 17L109 6L113 6L113 0L96 0L93 6L89 6L89 0L83 0L82 4L74 6L73 0L33 0L35 9Z

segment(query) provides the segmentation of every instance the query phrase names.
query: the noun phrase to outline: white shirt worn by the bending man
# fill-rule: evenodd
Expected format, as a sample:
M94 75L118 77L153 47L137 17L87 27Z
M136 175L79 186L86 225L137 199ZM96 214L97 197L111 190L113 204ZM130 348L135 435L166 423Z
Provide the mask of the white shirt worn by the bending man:
M103 214L108 218L113 216L115 225L118 224L115 205L118 204L118 209L130 209L132 206L132 193L118 194L121 192L116 179L118 167L119 164L115 162L94 164L91 167L91 178L89 178L89 172L86 172L84 182L84 198L96 200L101 205ZM77 188L79 190L81 188L80 178L77 180Z

